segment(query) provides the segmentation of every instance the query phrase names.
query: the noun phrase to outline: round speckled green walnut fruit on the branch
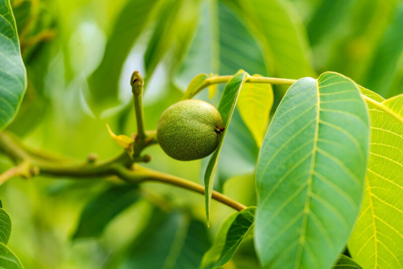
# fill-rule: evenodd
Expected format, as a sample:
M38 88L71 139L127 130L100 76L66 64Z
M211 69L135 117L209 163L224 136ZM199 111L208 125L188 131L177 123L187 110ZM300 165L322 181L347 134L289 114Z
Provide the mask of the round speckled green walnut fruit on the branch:
M183 100L161 115L157 140L166 154L176 160L190 161L210 155L224 131L220 112L201 100Z

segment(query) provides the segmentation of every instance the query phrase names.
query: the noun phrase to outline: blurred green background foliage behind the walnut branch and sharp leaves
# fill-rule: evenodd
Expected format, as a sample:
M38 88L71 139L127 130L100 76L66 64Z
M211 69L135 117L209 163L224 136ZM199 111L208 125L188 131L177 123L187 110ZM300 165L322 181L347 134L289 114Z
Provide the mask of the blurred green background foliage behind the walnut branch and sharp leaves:
M162 111L199 73L231 75L243 69L298 79L335 71L385 98L403 91L403 2L398 0L11 3L28 90L8 129L34 148L72 158L89 153L107 158L120 151L106 123L117 133L136 132L133 70L145 77L148 129L156 128ZM273 109L286 88L274 90ZM197 98L208 100L208 92ZM219 94L210 100L218 101ZM147 166L195 182L207 165L172 160L158 146L147 152L153 156ZM235 111L215 188L255 205L257 155ZM10 167L9 160L1 160L2 170ZM37 177L7 182L0 196L13 221L9 245L26 268L197 268L232 212L213 202L207 230L203 196L155 183L128 188L96 179ZM258 268L251 240L225 268Z

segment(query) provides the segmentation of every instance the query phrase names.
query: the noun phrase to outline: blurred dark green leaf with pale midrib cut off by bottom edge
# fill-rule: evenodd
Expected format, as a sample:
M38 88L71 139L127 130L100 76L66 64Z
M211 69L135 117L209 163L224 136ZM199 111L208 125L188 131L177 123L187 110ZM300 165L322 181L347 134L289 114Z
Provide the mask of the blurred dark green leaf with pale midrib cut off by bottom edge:
M203 222L172 212L151 219L119 268L196 269L209 246Z

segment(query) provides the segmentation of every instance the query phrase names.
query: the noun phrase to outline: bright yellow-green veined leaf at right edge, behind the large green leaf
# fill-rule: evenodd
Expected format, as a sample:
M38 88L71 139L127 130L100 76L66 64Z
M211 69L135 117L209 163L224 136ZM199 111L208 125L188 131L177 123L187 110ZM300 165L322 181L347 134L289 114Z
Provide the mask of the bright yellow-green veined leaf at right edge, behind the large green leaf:
M349 241L363 268L403 267L403 95L371 98L371 150L360 217Z

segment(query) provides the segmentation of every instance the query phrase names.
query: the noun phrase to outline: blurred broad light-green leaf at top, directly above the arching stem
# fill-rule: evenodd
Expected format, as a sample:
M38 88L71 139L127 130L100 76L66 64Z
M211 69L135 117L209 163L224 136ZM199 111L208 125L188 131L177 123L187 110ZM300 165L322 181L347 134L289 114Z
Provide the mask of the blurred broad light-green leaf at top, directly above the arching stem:
M238 14L261 42L271 74L290 79L315 74L308 57L306 34L292 6L279 0L238 0L231 4L236 5Z

